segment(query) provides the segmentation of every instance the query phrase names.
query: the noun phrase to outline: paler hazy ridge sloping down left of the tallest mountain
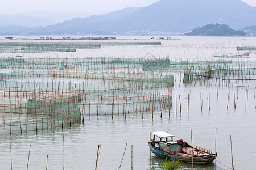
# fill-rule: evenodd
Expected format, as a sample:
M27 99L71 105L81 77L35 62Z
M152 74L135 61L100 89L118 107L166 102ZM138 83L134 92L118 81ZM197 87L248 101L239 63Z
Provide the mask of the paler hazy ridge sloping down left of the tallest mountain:
M70 21L65 21L63 23L49 25L48 27L40 29L31 29L30 35L61 35L61 34L101 34L106 35L109 33L114 33L115 29L110 28L112 23L122 20L133 14L134 12L140 10L138 7L129 7L123 10L117 10L104 15L92 15L89 18L74 18ZM108 26L107 26L108 25ZM119 25L122 27L122 25ZM123 27L122 27L123 28ZM122 29L121 28L121 29Z

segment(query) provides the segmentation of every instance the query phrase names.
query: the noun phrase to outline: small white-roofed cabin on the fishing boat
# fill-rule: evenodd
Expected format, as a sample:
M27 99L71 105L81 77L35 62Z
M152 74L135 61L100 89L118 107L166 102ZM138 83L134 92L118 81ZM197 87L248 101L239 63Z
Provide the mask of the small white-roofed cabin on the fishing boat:
M152 133L154 135L152 139L153 145L158 145L159 150L164 152L178 151L181 146L174 141L174 135L168 134L164 131L156 131ZM160 138L159 141L155 141L155 137ZM171 138L168 140L168 138Z

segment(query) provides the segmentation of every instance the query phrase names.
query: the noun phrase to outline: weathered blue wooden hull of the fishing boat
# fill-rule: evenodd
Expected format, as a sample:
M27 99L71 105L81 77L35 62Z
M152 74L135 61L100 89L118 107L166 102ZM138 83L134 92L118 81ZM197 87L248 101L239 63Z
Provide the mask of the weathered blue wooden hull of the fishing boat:
M185 162L185 163L192 163L193 162L194 164L205 165L205 164L208 164L208 163L212 163L213 160L217 156L217 154L209 154L207 156L197 156L197 155L192 156L190 154L178 154L178 155L174 154L174 155L172 155L172 154L167 154L164 151L161 151L158 148L152 146L150 142L148 142L148 146L150 147L151 152L153 154L157 155L157 156L172 159L172 160L179 160L179 161L182 161L182 162Z

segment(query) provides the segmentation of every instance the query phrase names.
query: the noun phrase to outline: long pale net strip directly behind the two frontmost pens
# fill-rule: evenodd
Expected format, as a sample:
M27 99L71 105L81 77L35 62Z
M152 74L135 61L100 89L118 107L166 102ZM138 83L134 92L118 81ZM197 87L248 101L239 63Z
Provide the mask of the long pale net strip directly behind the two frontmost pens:
M57 81L57 80L56 80ZM24 94L24 96L31 95L35 93L35 91L40 91L44 94L55 93L56 90L61 90L64 92L71 91L77 89L77 91L108 91L108 90L124 90L125 88L158 88L158 87L170 87L173 86L174 83L174 76L170 76L166 80L162 81L143 81L143 80L131 80L131 81L91 81L91 82L40 82L40 81L26 81L26 80L0 80L0 87L2 90L6 91L6 94L9 88L14 89L18 88L18 91ZM31 91L31 93L27 92Z

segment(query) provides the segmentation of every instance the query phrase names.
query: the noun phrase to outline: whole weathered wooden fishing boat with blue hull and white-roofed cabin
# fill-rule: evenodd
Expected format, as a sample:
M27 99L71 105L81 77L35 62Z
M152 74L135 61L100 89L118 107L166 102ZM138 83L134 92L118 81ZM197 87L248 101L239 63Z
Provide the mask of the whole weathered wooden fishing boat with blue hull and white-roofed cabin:
M152 134L154 137L151 142L148 142L148 146L155 155L201 165L212 163L217 156L217 153L213 154L211 150L199 146L192 147L182 139L174 141L174 135L164 131L156 131ZM160 140L155 141L155 137L160 138ZM168 140L168 138L171 138L171 140Z

